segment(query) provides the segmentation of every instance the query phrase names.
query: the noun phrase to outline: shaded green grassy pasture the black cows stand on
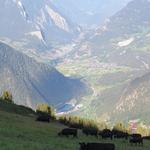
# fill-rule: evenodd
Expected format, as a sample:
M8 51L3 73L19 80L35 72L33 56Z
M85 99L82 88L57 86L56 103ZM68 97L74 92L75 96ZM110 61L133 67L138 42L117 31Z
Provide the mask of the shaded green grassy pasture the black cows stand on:
M8 107L7 107L8 108ZM81 134L78 139L61 138L57 133L64 128L57 122L40 123L34 116L22 116L1 110L0 105L0 149L1 150L78 150L79 142L111 142L97 140ZM113 141L116 150L149 150L150 142L144 147L130 146L127 141Z

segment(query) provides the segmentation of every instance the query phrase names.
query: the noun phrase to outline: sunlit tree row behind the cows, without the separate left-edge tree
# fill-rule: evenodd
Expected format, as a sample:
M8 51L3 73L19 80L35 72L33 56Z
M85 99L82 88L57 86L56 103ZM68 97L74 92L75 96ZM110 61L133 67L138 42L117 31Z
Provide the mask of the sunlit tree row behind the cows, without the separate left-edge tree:
M52 119L55 119L61 124L64 124L71 128L89 129L97 131L103 129L110 129L132 134L132 127L130 126L130 124L125 125L123 122L117 122L114 125L108 125L106 122L98 122L95 120L81 118L78 116L61 115L59 117L56 117L55 110L47 104L38 105L37 111L39 111L39 109L40 111L49 113ZM150 128L144 127L142 123L137 124L136 132L143 136L150 136Z

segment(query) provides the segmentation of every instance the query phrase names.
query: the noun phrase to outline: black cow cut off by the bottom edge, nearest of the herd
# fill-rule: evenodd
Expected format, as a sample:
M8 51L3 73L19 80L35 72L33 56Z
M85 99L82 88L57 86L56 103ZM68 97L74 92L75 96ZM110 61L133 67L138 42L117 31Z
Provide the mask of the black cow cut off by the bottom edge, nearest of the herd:
M80 150L115 150L112 143L79 143Z

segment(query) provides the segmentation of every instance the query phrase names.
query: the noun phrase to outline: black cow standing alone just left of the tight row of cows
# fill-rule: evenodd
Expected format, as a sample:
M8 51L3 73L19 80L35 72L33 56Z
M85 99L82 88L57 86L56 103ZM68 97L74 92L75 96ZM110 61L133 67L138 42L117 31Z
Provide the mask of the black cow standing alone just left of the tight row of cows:
M72 135L73 137L78 137L78 130L74 128L65 128L61 132L59 132L58 135L66 137Z

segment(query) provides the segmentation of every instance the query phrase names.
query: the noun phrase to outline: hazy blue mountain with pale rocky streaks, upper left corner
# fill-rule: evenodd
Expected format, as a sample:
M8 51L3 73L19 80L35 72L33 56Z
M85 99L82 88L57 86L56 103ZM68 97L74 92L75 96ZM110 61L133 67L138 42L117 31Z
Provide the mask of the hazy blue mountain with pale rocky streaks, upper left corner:
M70 43L78 35L77 27L49 0L0 1L0 18L0 39L30 55Z

